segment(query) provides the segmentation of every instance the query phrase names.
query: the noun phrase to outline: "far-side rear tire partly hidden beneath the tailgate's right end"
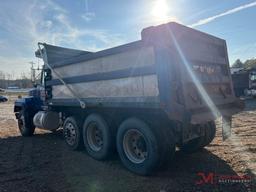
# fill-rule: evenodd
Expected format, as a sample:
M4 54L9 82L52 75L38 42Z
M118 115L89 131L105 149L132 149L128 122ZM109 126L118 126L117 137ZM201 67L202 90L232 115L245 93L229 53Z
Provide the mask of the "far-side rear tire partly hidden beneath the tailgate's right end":
M182 145L180 149L187 153L193 153L201 150L212 142L216 134L216 125L213 121L208 122L204 126L205 135L196 139L192 139L188 143Z

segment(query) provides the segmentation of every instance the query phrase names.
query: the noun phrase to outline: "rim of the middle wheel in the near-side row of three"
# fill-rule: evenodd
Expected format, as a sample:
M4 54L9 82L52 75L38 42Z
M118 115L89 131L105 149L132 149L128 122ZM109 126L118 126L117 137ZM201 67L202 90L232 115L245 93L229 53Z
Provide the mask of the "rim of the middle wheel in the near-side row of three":
M86 132L87 142L93 151L100 151L103 147L103 134L96 123L90 123Z

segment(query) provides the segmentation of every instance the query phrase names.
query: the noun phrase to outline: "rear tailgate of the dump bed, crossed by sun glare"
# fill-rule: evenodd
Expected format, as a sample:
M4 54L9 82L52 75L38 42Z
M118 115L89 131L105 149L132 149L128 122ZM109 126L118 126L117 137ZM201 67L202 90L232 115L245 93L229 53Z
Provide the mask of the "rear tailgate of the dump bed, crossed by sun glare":
M192 123L241 110L234 95L226 42L183 26L171 29L177 51L184 104Z

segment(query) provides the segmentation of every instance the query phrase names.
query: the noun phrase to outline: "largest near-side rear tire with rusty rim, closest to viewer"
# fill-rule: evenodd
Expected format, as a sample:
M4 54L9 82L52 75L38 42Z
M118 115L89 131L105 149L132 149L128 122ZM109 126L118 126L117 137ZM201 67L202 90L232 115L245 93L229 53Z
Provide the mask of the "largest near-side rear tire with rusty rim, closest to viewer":
M137 118L127 119L120 125L116 138L117 151L128 170L139 175L150 175L162 164L168 145L156 132Z

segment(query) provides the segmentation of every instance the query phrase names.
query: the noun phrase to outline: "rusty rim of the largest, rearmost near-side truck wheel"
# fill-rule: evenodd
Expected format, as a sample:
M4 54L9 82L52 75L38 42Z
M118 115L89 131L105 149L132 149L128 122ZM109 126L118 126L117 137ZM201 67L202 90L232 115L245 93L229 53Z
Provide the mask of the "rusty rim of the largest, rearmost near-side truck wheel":
M125 133L123 149L127 158L136 164L144 162L148 156L145 137L137 129L131 129Z

